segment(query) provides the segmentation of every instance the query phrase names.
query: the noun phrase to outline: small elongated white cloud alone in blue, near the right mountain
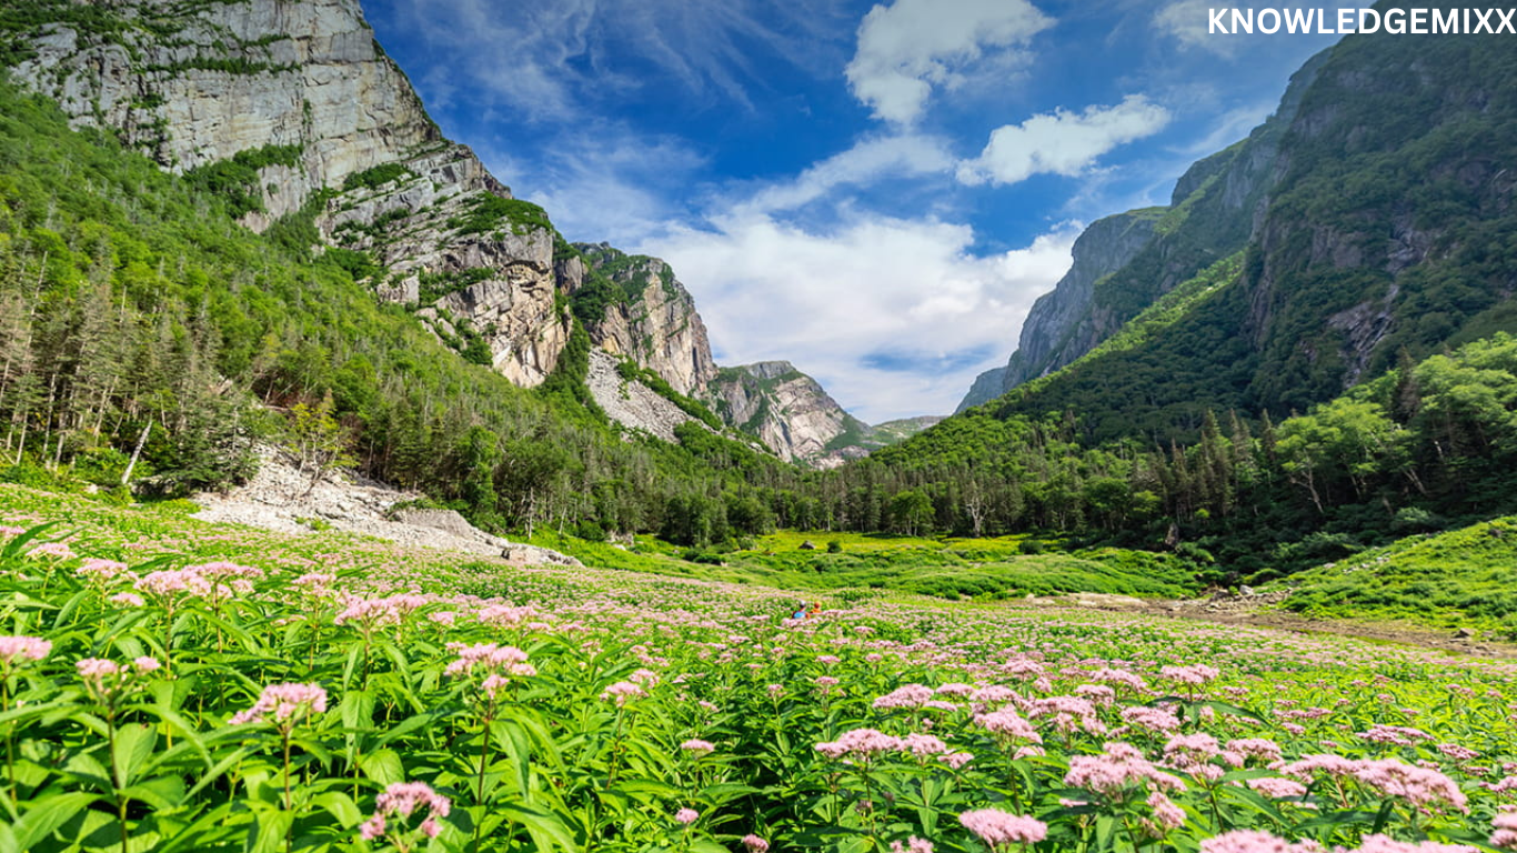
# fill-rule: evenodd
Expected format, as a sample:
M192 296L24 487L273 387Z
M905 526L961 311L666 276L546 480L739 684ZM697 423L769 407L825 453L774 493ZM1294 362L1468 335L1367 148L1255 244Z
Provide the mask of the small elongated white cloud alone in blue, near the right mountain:
M978 159L959 165L965 184L1016 184L1033 175L1080 175L1117 146L1156 134L1170 112L1142 96L1085 112L1059 109L991 134Z

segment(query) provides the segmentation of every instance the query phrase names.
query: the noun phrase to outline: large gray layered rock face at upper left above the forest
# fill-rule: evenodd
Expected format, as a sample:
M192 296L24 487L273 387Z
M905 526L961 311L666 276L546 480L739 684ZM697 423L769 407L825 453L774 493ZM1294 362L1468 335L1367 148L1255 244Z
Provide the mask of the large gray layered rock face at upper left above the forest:
M511 193L443 138L358 0L97 6L109 32L44 24L12 79L171 172L250 158L261 209L243 223L255 231L326 190L317 226L385 269L381 299L431 308L422 314L444 340L467 323L517 384L554 369L567 331L551 231L510 217L466 226L481 202Z

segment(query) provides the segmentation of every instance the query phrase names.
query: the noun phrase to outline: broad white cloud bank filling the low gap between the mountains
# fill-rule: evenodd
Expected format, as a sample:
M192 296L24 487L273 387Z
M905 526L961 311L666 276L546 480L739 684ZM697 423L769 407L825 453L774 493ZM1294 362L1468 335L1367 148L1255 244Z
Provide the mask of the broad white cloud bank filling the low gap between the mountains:
M1015 349L1033 301L1069 269L1079 232L1063 225L980 258L969 226L936 220L715 225L639 250L678 270L722 363L792 361L871 423L953 411L974 376Z

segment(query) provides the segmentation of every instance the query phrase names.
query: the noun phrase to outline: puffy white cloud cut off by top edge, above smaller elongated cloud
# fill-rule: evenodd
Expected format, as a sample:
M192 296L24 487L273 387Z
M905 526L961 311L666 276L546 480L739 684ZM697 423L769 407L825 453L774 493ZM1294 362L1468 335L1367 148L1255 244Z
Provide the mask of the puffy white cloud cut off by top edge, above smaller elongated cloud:
M1015 53L1050 26L1027 0L895 0L859 26L848 83L877 117L910 123L933 87L959 85L986 50Z

